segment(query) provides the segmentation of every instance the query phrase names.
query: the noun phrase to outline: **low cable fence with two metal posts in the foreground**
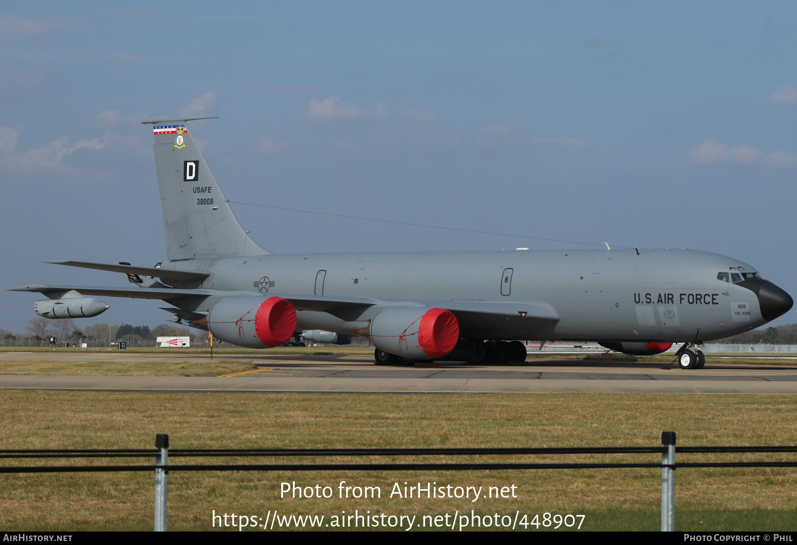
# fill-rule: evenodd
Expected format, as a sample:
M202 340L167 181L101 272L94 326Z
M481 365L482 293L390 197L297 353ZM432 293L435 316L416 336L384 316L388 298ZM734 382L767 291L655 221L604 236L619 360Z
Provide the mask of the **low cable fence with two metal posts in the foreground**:
M168 473L172 471L461 471L481 469L662 469L662 531L675 530L675 471L686 468L795 468L795 461L676 463L676 453L797 453L797 446L679 446L675 432L662 432L662 446L518 449L172 449L169 436L155 436L155 449L0 450L0 458L151 458L155 465L34 465L0 467L0 473L155 472L155 531L167 529ZM383 464L191 464L170 465L169 457L407 457L521 456L553 454L661 454L642 463L383 463Z

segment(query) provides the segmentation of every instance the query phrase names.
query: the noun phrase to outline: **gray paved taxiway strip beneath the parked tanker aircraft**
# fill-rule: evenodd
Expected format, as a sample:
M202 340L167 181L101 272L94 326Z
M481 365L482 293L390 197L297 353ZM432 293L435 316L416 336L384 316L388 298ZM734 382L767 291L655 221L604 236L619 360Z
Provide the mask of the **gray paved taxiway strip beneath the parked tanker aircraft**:
M206 355L118 353L0 353L5 361L206 361ZM403 393L543 392L797 394L797 367L707 364L681 370L662 363L533 360L508 366L438 363L435 367L375 366L370 356L225 355L252 361L257 371L222 377L61 376L0 374L0 388L170 393Z

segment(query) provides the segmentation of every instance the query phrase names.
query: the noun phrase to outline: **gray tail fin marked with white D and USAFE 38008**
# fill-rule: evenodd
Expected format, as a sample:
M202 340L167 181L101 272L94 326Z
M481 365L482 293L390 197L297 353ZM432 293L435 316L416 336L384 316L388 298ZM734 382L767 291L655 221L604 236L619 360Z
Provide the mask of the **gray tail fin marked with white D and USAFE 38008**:
M141 122L153 125L155 133L155 169L169 261L268 255L238 224L186 121L191 120Z

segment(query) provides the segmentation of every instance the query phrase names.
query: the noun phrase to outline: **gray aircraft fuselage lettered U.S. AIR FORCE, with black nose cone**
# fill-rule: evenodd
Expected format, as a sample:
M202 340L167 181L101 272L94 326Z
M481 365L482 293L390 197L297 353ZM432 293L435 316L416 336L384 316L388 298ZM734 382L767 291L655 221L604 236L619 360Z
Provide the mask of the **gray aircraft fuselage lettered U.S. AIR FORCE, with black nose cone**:
M559 316L558 323L542 328L507 319L505 334L463 331L474 339L710 340L759 327L791 308L791 297L767 280L734 284L717 278L730 270L755 273L751 265L688 249L289 254L172 261L169 266L212 273L202 284L175 287L269 296L512 301L550 308ZM760 295L767 290L768 298ZM206 311L218 299L173 303ZM347 316L297 314L299 327L351 335L375 312L379 305Z

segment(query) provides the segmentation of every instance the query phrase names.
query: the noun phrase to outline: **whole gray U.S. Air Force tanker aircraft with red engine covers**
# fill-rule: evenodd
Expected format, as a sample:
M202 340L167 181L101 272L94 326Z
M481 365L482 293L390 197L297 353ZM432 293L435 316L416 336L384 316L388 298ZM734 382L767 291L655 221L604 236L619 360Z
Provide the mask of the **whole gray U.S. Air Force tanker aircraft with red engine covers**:
M597 341L626 354L683 343L702 367L705 340L748 331L793 300L752 265L689 249L274 255L241 228L186 127L147 120L166 230L154 267L47 261L128 276L135 288L26 285L48 318L96 316L87 296L163 300L175 321L243 347L277 347L296 331L360 335L375 363L524 361L512 339ZM156 280L157 279L157 280Z

